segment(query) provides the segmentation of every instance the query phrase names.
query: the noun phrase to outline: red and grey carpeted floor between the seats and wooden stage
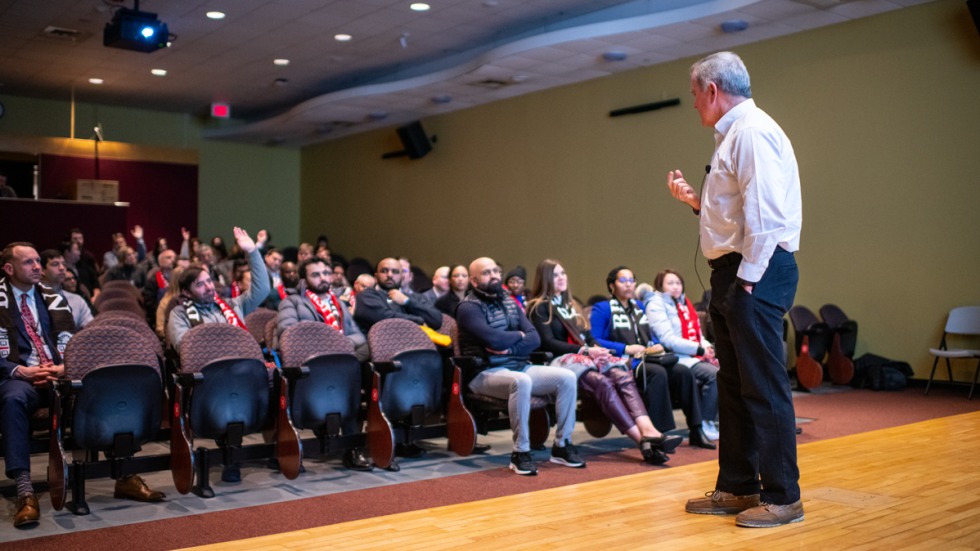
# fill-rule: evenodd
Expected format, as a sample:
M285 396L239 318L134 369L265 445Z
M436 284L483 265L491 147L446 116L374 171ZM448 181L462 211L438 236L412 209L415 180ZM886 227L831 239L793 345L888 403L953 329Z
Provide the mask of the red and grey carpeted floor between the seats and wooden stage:
M930 396L923 396L921 388L903 392L857 391L833 387L818 389L812 394L798 395L797 416L804 427L800 443L833 438L899 426L907 423L975 411L980 401L968 401L961 389L937 389ZM586 469L569 469L547 463L548 452L538 452L540 475L519 477L506 469L509 446L501 433L490 436L493 449L487 456L455 458L437 450L422 460L403 460L401 473L364 475L349 473L333 464L308 467L310 472L296 481L287 482L277 474L257 467L246 479L264 479L270 486L293 499L268 503L272 499L263 492L249 488L217 487L219 496L214 500L200 500L194 496L181 496L166 504L146 505L130 509L128 502L106 498L90 498L93 515L101 517L96 524L105 525L115 508L126 508L129 516L139 519L140 511L151 522L136 522L121 526L112 525L99 529L85 529L88 517L75 517L64 511L54 516L58 530L15 531L9 523L0 525L0 541L6 541L4 549L111 549L121 546L132 549L172 549L190 545L230 541L271 533L300 530L313 526L356 520L418 510L428 507L475 501L502 495L531 492L556 486L624 476L649 469L670 468L717 457L714 451L681 446L667 467L651 467L639 461L639 452L624 437L606 437L590 440L583 431L576 435L582 451L589 461ZM435 457L432 457L435 456ZM321 467L323 467L321 469ZM278 478L277 478L278 477ZM373 477L367 486L363 477ZM351 480L358 480L355 485ZM405 481L410 480L410 481ZM108 481L104 481L108 482ZM330 487L332 492L309 496L310 486ZM90 488L92 486L90 485ZM111 494L111 486L108 486ZM164 488L166 489L166 488ZM171 486L172 490L172 486ZM95 491L94 488L92 490ZM309 496L309 497L307 497ZM214 510L211 503L217 499L230 504L224 510ZM51 522L50 502L42 496L42 509ZM160 518L160 509L182 509L180 515ZM211 512L208 512L211 511ZM201 514L196 514L201 513ZM35 537L39 536L39 537ZM17 541L14 541L17 540Z

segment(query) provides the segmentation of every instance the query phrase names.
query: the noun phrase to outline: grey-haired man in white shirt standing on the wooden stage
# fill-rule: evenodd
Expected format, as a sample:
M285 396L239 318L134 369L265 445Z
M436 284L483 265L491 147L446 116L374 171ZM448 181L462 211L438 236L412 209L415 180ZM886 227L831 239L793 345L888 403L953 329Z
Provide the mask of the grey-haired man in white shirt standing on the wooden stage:
M737 514L738 526L753 528L800 522L796 417L782 346L783 316L799 281L796 156L751 99L737 55L696 62L691 93L701 124L714 128L715 151L700 194L680 170L667 175L667 186L699 214L701 251L712 269L721 439L715 490L686 510Z

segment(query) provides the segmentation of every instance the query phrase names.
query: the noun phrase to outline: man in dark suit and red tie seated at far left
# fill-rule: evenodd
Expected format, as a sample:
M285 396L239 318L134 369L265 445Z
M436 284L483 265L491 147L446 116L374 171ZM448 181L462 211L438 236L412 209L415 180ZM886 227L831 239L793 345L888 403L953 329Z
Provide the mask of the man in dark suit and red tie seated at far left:
M67 301L40 285L41 257L30 243L5 247L0 266L0 431L6 474L17 482L14 526L20 527L41 516L29 444L37 388L64 373L61 352L75 324Z

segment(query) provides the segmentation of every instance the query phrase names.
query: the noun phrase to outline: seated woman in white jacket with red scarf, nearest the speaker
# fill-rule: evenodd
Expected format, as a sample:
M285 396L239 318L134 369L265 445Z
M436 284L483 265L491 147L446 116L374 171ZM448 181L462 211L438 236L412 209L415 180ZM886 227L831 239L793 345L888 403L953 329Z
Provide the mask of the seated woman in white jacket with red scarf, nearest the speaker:
M656 292L646 302L646 315L657 339L686 365L701 388L701 431L710 440L718 439L718 360L715 348L701 332L694 305L684 295L684 279L673 270L664 270L654 280ZM690 427L694 430L693 427Z

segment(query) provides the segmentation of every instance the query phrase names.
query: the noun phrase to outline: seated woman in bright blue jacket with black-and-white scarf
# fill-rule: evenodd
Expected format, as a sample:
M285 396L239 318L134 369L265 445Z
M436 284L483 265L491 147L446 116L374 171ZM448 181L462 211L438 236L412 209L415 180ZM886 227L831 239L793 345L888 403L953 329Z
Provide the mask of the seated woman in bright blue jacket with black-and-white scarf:
M647 411L653 424L661 431L676 428L674 423L673 396L681 404L681 410L690 429L689 442L699 448L715 449L715 445L701 432L701 396L694 375L681 364L659 365L647 356L663 353L664 347L657 340L647 315L634 299L636 278L626 266L617 266L606 276L609 300L592 307L592 333L596 341L612 350L617 356L633 358L635 368L642 370L645 382ZM675 358L676 360L676 358Z

